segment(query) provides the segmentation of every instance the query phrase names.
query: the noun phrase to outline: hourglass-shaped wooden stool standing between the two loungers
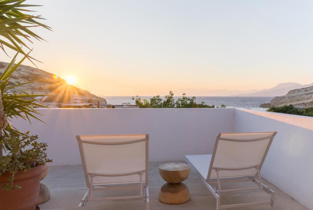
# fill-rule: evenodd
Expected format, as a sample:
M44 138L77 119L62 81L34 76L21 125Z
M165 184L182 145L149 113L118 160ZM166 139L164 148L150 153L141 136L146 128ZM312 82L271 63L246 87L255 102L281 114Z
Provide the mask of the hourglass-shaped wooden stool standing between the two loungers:
M178 204L190 200L189 189L182 183L190 173L189 165L184 163L165 163L159 166L159 173L167 181L159 192L159 200L161 202Z

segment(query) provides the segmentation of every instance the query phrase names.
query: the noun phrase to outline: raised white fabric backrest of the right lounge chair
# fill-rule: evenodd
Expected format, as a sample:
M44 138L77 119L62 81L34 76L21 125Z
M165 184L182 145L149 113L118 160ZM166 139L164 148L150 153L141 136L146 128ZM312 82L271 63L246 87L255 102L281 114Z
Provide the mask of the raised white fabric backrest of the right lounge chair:
M207 180L219 177L254 176L261 169L277 132L219 133Z

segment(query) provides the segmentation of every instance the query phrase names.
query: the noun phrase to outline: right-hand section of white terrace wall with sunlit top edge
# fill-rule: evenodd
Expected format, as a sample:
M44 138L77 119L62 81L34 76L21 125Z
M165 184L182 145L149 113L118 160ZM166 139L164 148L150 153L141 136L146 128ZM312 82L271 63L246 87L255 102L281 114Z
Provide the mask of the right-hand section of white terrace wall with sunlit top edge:
M313 117L236 109L234 131L277 131L261 176L313 209Z

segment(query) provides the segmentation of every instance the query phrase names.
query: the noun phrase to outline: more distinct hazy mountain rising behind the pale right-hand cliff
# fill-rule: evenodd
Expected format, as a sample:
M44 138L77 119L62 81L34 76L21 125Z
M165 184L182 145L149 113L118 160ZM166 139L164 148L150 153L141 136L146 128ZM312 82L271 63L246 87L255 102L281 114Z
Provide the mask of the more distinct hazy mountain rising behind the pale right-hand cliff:
M310 87L312 85L313 85L313 83L308 84L308 85L301 85L301 84L295 83L295 82L287 82L287 83L280 83L280 84L278 84L275 87L270 88L270 89L265 89L262 91L257 91L257 92L249 93L249 94L237 94L237 95L232 95L232 96L275 97L275 96L286 95L290 90L306 88L306 87Z

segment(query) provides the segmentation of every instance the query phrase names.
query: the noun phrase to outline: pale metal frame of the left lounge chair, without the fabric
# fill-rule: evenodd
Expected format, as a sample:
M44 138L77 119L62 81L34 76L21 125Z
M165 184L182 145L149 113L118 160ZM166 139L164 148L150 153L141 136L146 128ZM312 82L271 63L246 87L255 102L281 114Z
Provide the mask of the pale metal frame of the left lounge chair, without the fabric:
M145 135L145 138L135 139L131 141L122 141L122 142L98 142L98 141L84 141L81 137L89 137L89 136L137 136L137 135ZM81 199L78 209L81 210L83 206L86 205L88 201L105 201L105 200L124 200L124 199L138 199L144 198L146 202L146 208L149 210L149 134L128 134L128 135L79 135L76 136L78 141L80 156L83 164L85 179L87 183L88 190L85 193L84 197ZM85 155L82 143L88 144L96 144L96 145L125 145L132 144L145 141L146 142L146 168L145 170L122 173L122 174L99 174L99 173L88 173L87 165L85 161ZM146 173L146 180L142 182L142 175ZM93 178L96 176L101 177L121 177L121 176L129 176L129 175L139 175L139 182L123 182L123 183L103 183L103 184L94 184ZM89 180L90 177L90 180ZM127 186L125 186L127 185ZM96 188L95 188L96 187ZM105 198L93 198L92 193L95 191L107 191L107 190L128 190L128 189L139 189L138 196L124 196L124 197L105 197Z

